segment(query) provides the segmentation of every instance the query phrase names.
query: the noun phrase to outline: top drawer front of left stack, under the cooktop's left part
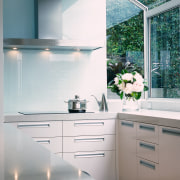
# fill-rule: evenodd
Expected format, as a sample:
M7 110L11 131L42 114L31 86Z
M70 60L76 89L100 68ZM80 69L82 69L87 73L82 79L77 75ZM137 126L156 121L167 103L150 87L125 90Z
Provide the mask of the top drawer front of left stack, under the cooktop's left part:
M62 122L20 122L13 123L31 137L62 136Z

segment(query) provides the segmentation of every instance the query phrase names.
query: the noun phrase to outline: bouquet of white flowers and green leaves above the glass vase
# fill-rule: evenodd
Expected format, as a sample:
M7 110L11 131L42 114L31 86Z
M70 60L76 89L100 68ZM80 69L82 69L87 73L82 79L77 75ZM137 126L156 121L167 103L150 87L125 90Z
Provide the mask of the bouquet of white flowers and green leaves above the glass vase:
M138 100L143 91L148 90L145 80L137 71L131 73L123 70L116 74L113 84L108 86L112 92L117 93L121 99L125 96L127 99Z

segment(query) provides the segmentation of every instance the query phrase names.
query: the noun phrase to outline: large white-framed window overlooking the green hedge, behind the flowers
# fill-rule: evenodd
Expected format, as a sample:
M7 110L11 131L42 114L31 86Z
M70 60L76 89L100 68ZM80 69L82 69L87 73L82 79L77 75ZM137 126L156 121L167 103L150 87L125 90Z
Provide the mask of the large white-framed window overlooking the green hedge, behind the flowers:
M180 1L130 0L128 7L127 1L106 0L107 79L110 81L123 63L137 63L145 67L149 83L144 108L180 111ZM129 18L124 18L129 12ZM119 97L108 91L108 98Z

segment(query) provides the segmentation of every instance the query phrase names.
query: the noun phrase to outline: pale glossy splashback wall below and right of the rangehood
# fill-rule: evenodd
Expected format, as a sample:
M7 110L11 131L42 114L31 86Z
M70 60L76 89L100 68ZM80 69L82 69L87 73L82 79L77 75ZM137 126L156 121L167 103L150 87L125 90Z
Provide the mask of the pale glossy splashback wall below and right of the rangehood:
M63 39L106 41L105 0L63 0ZM106 47L95 51L5 50L5 112L67 110L75 94L98 110L106 93Z

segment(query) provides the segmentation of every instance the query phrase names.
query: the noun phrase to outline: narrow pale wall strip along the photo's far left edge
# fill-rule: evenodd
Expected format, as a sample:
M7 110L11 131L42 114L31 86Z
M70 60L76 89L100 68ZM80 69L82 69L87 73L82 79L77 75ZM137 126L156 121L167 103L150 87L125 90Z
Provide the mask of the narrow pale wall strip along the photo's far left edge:
M3 16L2 0L0 0L0 122L3 122Z

